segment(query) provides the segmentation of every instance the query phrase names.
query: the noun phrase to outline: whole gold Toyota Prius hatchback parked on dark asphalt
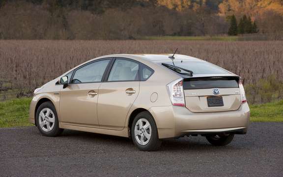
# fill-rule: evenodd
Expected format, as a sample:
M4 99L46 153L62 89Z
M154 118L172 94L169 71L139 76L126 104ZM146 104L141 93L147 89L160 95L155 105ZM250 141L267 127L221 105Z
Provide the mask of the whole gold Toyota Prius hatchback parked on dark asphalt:
M140 150L205 136L215 146L246 134L250 109L239 76L184 55L108 55L34 90L29 120L45 136L63 129L129 137Z

